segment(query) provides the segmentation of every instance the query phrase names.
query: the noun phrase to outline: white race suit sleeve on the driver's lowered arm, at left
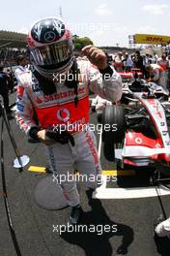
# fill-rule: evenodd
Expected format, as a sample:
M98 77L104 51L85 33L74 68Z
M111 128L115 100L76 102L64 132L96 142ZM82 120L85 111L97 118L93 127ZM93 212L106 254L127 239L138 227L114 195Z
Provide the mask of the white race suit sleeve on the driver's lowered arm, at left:
M17 87L15 118L16 123L20 126L20 129L26 133L26 135L29 135L32 128L38 128L38 125L36 125L33 120L32 103L28 96L27 88L24 86Z

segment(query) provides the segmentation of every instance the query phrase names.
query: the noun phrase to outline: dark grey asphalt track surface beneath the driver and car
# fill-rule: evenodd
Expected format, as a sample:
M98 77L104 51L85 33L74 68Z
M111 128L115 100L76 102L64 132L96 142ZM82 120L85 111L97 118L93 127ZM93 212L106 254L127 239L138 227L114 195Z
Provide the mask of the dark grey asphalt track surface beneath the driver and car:
M12 103L14 95L11 96ZM91 116L96 123L96 115ZM11 120L14 139L22 154L31 161L23 173L14 169L14 150L7 131L5 137L5 174L8 199L14 223L14 232L23 256L156 256L170 255L170 242L154 239L154 222L161 213L157 197L141 199L91 199L87 189L80 190L83 208L83 225L117 225L117 232L103 232L102 235L86 232L53 232L53 225L67 225L71 208L45 210L35 203L34 191L47 174L28 172L29 166L46 166L42 144L28 144L27 138ZM98 136L99 142L99 136ZM103 170L115 170L113 162L106 161L101 148ZM148 170L140 175L118 176L117 182L108 182L107 187L148 186ZM1 178L0 178L1 179ZM15 256L3 200L0 180L0 255ZM115 192L114 192L115 193ZM161 197L166 214L170 212L170 196Z

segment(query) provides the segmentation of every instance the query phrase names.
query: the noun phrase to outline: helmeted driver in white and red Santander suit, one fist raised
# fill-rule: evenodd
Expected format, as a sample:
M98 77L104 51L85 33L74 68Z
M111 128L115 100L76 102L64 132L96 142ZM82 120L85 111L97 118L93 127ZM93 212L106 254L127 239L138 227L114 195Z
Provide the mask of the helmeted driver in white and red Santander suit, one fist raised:
M96 138L88 127L89 84L100 97L117 102L122 96L121 78L108 66L104 52L94 46L82 49L87 60L77 61L71 32L60 18L37 22L27 43L32 71L20 77L17 123L27 135L46 145L57 176L67 176L75 169L86 176L98 176L101 170ZM32 118L33 112L39 125ZM83 125L87 129L82 129ZM61 132L59 127L65 130ZM76 184L68 180L60 185L72 207L71 224L76 224L82 212ZM87 185L95 189L98 182Z

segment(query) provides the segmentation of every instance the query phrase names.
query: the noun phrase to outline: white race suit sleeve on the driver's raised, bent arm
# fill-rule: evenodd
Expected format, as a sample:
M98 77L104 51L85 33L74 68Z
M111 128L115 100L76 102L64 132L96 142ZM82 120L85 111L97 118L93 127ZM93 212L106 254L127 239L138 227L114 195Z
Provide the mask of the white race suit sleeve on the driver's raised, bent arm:
M122 80L113 67L110 69L112 69L112 75L104 74L103 76L97 67L91 65L89 71L90 87L99 97L115 103L122 97Z

